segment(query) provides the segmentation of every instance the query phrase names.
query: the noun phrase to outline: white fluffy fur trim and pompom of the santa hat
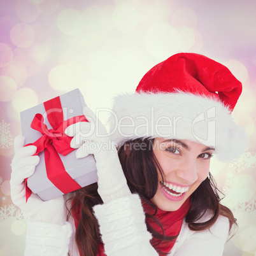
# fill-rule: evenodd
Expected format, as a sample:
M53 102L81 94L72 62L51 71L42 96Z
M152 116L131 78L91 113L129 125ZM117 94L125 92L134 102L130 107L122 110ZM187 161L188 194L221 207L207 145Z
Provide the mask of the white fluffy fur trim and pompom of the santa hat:
M228 106L187 92L135 93L115 98L110 135L119 146L137 138L189 139L215 147L220 160L239 157L246 133Z

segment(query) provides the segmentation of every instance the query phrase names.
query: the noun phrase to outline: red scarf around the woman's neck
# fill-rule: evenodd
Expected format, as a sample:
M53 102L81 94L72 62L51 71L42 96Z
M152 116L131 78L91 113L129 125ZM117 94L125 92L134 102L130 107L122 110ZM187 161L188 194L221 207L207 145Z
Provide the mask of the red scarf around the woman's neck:
M155 213L155 210L152 208L152 206L150 206L142 199L141 202L143 204L143 210L145 211L145 213L148 213L149 215L153 215ZM157 220L159 220L160 224L162 225L162 228L164 229L164 234L166 236L178 236L178 234L180 234L183 218L187 215L188 210L190 208L190 204L190 199L188 198L177 211L162 211L159 208L157 208L157 213L153 216L157 218ZM78 222L81 216L80 209L80 206L78 206L77 208L72 208L72 215L75 220L76 228L78 226ZM153 229L155 229L155 231L162 234L162 229L160 228L159 224L155 222L155 220L146 217L146 221L148 222L148 224L151 225ZM177 238L173 239L172 241L162 241L159 244L160 240L153 238L150 242L152 243L152 245L155 245L155 248L160 252L168 253L171 251L171 248L173 248L176 239ZM103 243L99 244L99 251L97 253L97 256L106 256L104 253Z

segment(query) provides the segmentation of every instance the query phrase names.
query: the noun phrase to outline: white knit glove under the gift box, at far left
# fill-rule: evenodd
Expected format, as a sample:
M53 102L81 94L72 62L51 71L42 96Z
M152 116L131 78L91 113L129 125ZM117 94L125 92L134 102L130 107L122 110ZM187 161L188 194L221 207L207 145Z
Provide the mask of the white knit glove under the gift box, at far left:
M63 225L63 196L44 202L32 193L27 203L25 202L25 178L31 176L39 164L38 155L34 155L36 146L24 146L24 137L17 136L14 150L15 155L11 163L11 200L22 210L25 218Z

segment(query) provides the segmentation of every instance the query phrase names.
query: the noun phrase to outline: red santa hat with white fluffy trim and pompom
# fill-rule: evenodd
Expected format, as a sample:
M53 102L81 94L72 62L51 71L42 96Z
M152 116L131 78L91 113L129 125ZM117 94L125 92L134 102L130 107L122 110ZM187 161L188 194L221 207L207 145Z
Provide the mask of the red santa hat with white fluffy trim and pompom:
M178 53L143 76L135 94L115 98L109 119L117 145L137 138L189 139L213 146L220 160L244 152L246 133L231 112L242 85L222 64Z

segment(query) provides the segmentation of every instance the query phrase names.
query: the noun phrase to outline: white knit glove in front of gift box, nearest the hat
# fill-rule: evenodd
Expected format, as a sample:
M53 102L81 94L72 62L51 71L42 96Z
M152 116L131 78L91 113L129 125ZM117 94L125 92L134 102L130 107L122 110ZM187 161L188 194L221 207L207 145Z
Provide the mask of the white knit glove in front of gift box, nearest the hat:
M78 148L77 158L94 154L101 199L108 203L113 199L131 195L118 159L117 148L109 138L106 128L90 108L83 108L83 115L89 122L70 125L65 133L71 137L75 136L70 146Z

